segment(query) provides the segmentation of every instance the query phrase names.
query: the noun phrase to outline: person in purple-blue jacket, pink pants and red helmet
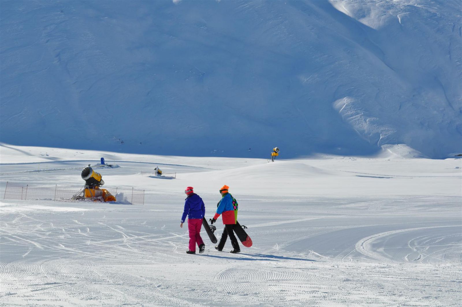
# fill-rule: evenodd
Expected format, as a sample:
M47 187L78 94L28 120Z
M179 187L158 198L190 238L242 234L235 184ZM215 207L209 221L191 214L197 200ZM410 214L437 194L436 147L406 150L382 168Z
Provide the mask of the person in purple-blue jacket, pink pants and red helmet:
M180 227L183 227L186 215L188 215L188 230L189 230L189 249L186 251L188 254L196 253L196 243L199 246L199 252L205 251L205 244L201 238L202 219L205 215L205 204L202 198L194 193L194 188L188 186L184 193L186 197L184 202L183 215L181 217Z

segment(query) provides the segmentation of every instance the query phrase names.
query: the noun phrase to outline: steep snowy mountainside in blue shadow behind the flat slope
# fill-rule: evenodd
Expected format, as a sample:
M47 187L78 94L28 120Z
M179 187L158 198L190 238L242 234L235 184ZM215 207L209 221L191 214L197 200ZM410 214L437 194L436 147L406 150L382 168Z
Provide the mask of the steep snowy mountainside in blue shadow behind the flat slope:
M15 0L0 14L2 142L462 152L460 1Z

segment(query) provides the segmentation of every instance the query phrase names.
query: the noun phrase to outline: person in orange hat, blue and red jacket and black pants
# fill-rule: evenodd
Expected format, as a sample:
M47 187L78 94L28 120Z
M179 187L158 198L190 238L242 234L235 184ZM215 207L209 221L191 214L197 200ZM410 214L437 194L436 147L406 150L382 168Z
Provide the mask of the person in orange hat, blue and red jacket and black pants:
M233 203L233 198L231 194L228 192L229 186L226 184L221 187L220 194L221 200L218 203L217 212L210 220L210 224L213 224L217 221L218 217L222 215L223 224L225 225L225 229L223 229L223 233L221 234L220 242L215 249L218 251L222 251L223 247L225 247L226 239L230 237L231 245L233 247L232 253L241 252L241 248L239 247L239 243L237 242L236 236L234 235L234 228L236 227L237 222L237 204Z

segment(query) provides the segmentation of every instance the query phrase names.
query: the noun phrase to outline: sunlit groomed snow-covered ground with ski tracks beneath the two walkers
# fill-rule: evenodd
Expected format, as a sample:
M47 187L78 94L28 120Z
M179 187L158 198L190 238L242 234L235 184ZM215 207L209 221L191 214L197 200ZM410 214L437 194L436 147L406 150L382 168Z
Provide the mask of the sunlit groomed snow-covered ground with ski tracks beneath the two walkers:
M146 190L144 206L2 200L2 306L461 304L460 159L387 151L267 163L0 149L0 191L6 181L79 188L81 170L72 168L100 157L120 166L98 170L109 191ZM155 166L176 179L149 177ZM195 188L210 218L223 184L254 245L218 252L202 231L206 252L186 254L184 188Z

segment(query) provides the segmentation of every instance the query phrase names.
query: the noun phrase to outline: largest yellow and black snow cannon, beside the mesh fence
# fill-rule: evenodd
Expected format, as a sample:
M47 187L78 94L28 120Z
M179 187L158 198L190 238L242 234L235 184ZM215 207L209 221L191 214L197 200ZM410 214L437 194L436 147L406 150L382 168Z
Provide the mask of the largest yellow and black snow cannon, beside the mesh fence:
M85 185L79 193L75 194L72 199L91 199L95 202L115 202L116 197L109 193L106 189L99 187L104 184L100 173L93 171L90 164L82 171L82 179L85 180Z

